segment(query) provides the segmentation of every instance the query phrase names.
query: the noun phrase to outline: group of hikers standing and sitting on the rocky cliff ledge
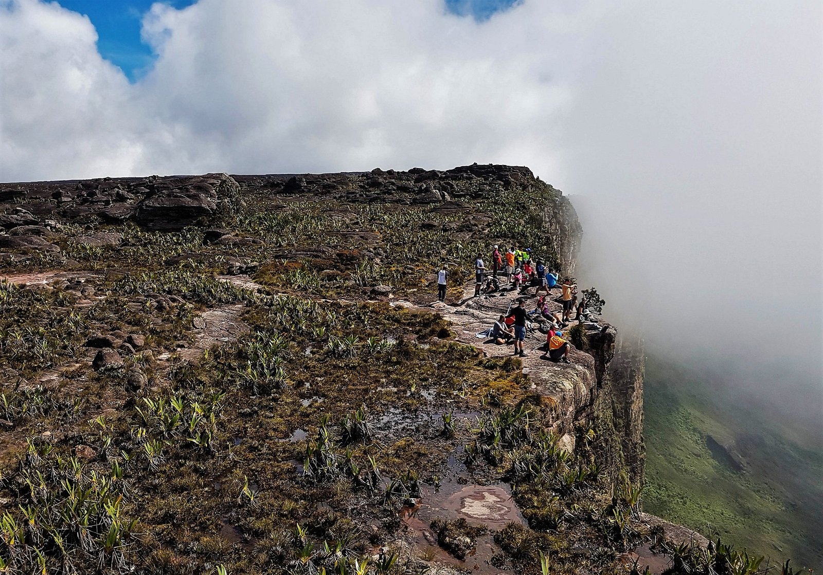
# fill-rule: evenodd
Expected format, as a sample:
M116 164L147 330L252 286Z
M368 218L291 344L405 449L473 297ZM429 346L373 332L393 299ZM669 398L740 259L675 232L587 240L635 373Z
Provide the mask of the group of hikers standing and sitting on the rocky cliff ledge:
M532 250L529 248L509 248L500 252L500 247L495 245L491 253L491 275L488 274L485 262L480 254L475 260L475 287L474 297L481 294L493 294L498 291L519 290L525 295L529 287L534 287L534 295L537 297L537 306L529 311L526 308L526 297L518 299L517 305L509 306L507 313L500 314L500 318L486 332L478 334L480 336L491 336L493 341L499 345L509 343L514 340L514 355L525 357L526 330L529 322L540 324L540 331L546 333L546 355L552 361L570 363L569 341L563 337L560 330L570 324L570 322L594 321L593 314L586 307L585 294L580 297L575 293L577 285L572 283L570 278L560 281L560 276L553 268L546 266L542 260L535 262L532 260ZM501 285L505 275L506 285ZM437 274L438 299L445 301L446 286L449 272L443 266ZM500 276L500 277L499 277ZM485 285L484 285L485 284ZM560 285L560 301L563 304L561 312L551 312L549 309L549 290ZM541 294L541 292L543 292ZM575 314L574 319L572 314Z

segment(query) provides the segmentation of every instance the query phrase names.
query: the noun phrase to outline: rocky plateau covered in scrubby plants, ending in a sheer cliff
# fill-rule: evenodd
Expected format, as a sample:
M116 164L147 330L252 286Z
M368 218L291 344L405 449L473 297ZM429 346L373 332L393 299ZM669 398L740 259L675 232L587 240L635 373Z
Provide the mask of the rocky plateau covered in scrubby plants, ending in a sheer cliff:
M574 276L574 207L527 168L6 183L0 229L3 565L664 560L672 529L640 512L642 349L602 321L571 364L537 326L522 359L477 337L533 299L471 297L477 254L528 246Z

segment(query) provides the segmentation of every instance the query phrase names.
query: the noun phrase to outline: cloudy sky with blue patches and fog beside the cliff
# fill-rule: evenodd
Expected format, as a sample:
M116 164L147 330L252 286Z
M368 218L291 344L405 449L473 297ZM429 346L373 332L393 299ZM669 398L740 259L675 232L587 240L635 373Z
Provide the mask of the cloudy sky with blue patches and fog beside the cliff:
M817 0L0 0L0 180L528 165L610 318L823 413Z

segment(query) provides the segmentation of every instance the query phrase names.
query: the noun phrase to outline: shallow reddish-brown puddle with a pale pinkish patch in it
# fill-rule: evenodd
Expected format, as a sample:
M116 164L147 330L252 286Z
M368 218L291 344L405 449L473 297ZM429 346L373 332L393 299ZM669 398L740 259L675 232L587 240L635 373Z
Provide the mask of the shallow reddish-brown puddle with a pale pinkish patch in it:
M525 525L526 520L514 504L509 485L461 485L452 481L441 485L437 492L425 485L421 495L416 507L405 508L402 512L402 521L413 537L418 557L468 569L479 575L502 573L502 569L492 565L492 558L501 554L493 533L478 536L475 548L461 561L437 545L437 534L430 525L437 517L465 519L471 525L485 526L491 531L500 530L509 522Z

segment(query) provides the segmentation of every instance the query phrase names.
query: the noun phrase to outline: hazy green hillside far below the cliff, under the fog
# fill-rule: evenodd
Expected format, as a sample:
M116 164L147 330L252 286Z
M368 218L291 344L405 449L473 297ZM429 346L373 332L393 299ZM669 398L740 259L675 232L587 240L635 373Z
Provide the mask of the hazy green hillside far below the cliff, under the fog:
M647 512L705 534L716 529L773 559L823 568L819 441L719 394L699 369L654 357L645 422Z

